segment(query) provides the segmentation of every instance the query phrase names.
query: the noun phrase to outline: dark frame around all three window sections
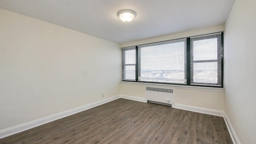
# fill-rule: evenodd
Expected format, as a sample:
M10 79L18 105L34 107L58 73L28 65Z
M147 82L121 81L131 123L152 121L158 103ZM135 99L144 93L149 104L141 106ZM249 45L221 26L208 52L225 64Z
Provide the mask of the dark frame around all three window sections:
M168 42L168 41L172 41L172 40L167 40L167 41L162 41L162 42L154 42L154 43L149 43L149 44L142 44L142 45L137 45L137 46L131 46L131 47L125 47L125 48L122 48L122 81L132 81L132 82L136 82L136 83L148 83L148 84L167 84L167 85L180 85L180 86L199 86L199 87L212 87L212 88L223 88L223 52L224 52L224 48L223 48L223 32L216 32L216 33L211 33L211 34L204 34L204 35L216 35L216 34L220 34L220 42L221 42L221 48L220 48L220 51L221 51L221 54L220 54L220 59L221 59L221 72L218 73L218 76L220 76L221 78L221 86L220 85L205 85L205 84L191 84L191 56L190 56L190 38L192 38L192 36L190 37L187 37L187 38L179 38L179 39L174 39L174 40L182 40L182 39L186 39L186 54L185 54L185 59L186 59L186 67L185 67L185 71L186 71L186 75L185 75L185 79L186 79L186 83L185 84L179 84L179 83L169 83L169 82L147 82L147 81L140 81L138 80L138 58L139 58L139 47L140 46L146 46L146 45L158 45L158 44L162 44L164 42ZM199 36L204 36L204 35L199 35ZM193 36L193 37L199 37L199 36ZM130 48L135 48L136 50L136 64L135 64L135 75L136 75L136 78L135 80L128 80L128 79L124 79L124 50L128 50ZM131 49L130 49L131 50Z

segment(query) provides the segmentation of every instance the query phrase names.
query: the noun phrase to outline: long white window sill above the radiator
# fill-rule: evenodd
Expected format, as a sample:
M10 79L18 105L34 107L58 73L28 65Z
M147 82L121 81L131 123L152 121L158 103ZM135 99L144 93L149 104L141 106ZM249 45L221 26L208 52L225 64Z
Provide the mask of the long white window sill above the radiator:
M212 91L212 92L225 92L224 88L202 87L202 86L153 84L153 83L146 83L146 82L127 82L127 81L121 81L120 84L132 84L132 85L139 85L139 86L158 86L158 87L164 87L164 88L178 88L178 89L187 89L187 90L204 90L204 91Z

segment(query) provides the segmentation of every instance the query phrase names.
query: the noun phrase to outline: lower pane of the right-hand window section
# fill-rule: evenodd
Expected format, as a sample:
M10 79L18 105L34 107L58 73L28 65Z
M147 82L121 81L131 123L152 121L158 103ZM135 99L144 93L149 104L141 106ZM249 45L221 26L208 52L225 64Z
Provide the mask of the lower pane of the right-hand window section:
M194 63L193 80L197 83L218 83L218 63L217 62L198 62Z

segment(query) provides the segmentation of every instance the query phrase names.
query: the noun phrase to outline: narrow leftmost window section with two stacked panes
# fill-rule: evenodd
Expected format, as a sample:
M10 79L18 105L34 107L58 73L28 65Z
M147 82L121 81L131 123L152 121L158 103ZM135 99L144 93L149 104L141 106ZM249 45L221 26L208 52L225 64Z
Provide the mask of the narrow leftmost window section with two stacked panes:
M136 80L136 50L133 48L126 48L122 50L122 79Z

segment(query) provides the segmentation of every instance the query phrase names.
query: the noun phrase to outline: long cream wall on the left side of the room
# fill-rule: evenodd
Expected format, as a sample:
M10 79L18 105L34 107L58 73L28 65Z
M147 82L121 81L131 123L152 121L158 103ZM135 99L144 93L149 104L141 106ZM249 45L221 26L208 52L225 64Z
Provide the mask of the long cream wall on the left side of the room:
M119 44L0 9L0 130L118 95Z

